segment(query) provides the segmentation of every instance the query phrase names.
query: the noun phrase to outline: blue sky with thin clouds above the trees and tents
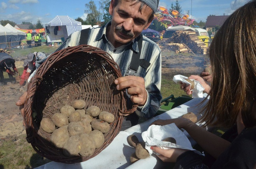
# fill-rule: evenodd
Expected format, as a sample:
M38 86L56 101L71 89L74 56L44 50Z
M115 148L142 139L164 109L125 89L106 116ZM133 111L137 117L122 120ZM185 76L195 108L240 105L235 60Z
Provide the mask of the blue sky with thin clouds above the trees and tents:
M160 0L159 6L170 9L171 3L175 5L176 0ZM243 5L248 0L179 0L182 7L182 14L189 11L189 15L197 22L206 21L211 15L230 15L235 9ZM84 14L85 4L89 0L3 0L0 1L0 20L11 20L16 24L22 21L36 24L40 19L42 24L54 19L56 15L68 15L75 19L77 17L86 18ZM94 0L99 4L99 0Z

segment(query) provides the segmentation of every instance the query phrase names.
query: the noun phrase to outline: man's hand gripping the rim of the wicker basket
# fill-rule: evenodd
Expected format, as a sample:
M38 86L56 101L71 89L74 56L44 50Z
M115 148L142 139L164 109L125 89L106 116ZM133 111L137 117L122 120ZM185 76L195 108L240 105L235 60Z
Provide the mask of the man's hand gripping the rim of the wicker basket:
M144 78L139 76L124 76L115 80L117 90L127 88L127 92L131 95L130 99L134 104L144 106L147 101L147 91L145 89Z

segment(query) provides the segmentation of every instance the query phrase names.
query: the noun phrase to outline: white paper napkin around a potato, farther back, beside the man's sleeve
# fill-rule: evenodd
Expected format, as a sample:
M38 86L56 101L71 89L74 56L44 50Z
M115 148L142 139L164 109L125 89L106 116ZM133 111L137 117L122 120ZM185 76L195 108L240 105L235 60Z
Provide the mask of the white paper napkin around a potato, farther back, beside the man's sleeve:
M175 83L178 83L178 82L182 81L182 83L186 83L187 85L191 85L191 83L189 83L187 80L185 80L187 78L188 77L186 77L186 76L175 75L172 80ZM202 84L199 81L197 81L195 79L190 79L190 80L194 81L194 83L195 83L195 87L193 89L192 97L193 98L202 98L204 87L202 86Z

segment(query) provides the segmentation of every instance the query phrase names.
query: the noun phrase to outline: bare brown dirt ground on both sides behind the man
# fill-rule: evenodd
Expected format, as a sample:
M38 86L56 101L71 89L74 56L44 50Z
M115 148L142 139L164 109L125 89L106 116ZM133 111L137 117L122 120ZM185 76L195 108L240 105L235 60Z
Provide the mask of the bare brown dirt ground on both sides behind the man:
M25 58L26 56L19 57L15 62L16 67L22 67ZM199 74L207 64L206 56L162 51L162 75L170 78L178 74ZM0 140L26 133L23 117L19 107L15 105L24 92L25 88L14 81L8 81L6 85L0 87Z

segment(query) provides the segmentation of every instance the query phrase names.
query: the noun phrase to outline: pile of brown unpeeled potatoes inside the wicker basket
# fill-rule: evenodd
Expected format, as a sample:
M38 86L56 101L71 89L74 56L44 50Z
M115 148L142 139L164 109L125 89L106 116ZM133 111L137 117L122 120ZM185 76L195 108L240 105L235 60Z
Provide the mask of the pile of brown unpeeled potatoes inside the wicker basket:
M63 150L65 156L90 157L95 149L100 148L104 133L109 132L114 115L100 111L97 106L90 106L85 111L85 101L77 100L71 106L61 107L60 113L55 113L52 119L43 118L40 125L52 133L51 143Z

